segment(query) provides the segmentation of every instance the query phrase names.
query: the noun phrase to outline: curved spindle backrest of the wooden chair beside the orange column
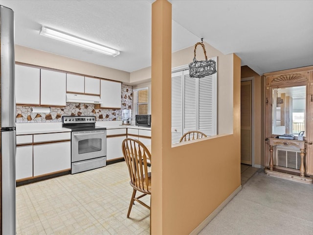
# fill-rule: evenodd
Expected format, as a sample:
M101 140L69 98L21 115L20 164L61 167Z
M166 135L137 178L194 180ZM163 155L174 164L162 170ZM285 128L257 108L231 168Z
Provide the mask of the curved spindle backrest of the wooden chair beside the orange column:
M151 154L140 141L126 138L122 143L122 151L131 178L131 186L144 193L151 193L151 173L148 172L147 159ZM150 182L149 182L150 181Z

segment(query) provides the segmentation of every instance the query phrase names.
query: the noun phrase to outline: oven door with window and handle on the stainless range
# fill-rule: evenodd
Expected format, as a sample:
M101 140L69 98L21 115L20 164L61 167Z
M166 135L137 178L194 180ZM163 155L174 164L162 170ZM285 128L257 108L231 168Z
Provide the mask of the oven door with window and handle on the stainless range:
M72 132L72 163L106 155L106 130Z

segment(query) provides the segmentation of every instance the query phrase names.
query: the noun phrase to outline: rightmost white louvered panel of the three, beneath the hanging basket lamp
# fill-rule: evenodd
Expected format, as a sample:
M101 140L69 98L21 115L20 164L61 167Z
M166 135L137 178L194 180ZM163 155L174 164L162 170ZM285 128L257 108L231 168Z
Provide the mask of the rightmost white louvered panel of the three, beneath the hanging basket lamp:
M199 78L198 130L207 136L217 134L217 75Z

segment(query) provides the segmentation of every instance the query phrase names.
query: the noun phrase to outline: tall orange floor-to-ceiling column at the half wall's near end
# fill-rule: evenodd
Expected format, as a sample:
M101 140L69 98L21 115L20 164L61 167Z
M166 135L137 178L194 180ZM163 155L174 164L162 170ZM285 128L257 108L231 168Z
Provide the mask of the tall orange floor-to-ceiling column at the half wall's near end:
M168 202L164 188L168 186L163 180L168 167L164 156L171 151L172 4L167 0L156 0L152 4L151 52L151 152L157 161L152 157L150 228L151 234L159 235L170 234L165 225L169 211L165 206Z

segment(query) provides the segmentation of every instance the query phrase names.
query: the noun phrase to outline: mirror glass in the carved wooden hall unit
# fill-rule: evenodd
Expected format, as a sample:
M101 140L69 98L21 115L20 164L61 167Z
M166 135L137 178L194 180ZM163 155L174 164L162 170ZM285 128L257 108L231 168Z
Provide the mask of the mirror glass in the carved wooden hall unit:
M306 86L273 88L272 101L273 135L298 136L306 130Z

